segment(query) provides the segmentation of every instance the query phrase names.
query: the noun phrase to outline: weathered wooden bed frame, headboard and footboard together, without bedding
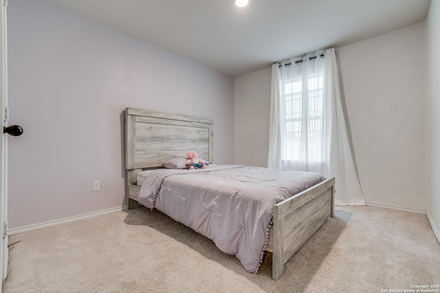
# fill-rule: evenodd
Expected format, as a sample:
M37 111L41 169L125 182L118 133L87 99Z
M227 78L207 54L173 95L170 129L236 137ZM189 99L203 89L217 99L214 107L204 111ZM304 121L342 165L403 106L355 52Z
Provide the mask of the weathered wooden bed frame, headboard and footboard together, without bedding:
M197 150L212 162L214 121L137 108L125 109L125 167L127 204L137 203L137 172L161 168L186 150ZM334 215L335 178L330 178L274 206L273 225L266 250L272 253L272 279L278 280L285 263L329 217Z

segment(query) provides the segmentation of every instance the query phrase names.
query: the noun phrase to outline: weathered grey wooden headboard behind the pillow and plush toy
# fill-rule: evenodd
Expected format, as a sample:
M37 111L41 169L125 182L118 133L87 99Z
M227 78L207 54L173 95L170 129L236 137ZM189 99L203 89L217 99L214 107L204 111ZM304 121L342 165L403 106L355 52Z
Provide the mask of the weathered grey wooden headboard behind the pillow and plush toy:
M214 120L137 108L125 109L125 168L129 184L134 172L162 167L170 159L196 150L212 162ZM134 174L135 177L135 174Z

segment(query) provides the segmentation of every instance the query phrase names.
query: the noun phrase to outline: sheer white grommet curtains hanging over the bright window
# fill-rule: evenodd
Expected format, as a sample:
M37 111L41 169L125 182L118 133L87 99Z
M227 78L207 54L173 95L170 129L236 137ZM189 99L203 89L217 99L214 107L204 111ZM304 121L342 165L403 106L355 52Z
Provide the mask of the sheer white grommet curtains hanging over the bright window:
M336 204L364 205L334 49L272 65L267 167L336 177Z

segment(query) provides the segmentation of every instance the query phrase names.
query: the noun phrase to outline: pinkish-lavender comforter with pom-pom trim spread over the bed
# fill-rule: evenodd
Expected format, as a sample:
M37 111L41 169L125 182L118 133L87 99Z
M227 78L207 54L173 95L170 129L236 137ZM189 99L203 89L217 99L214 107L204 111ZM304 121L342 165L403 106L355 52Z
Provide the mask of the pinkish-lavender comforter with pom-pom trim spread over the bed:
M274 204L322 180L325 177L313 172L243 165L159 169L148 175L137 200L212 239L256 273Z

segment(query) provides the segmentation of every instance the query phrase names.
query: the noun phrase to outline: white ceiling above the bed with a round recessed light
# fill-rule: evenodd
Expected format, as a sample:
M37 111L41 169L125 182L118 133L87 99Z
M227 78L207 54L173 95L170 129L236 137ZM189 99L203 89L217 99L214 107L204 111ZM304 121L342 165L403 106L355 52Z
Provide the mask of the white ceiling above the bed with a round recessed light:
M50 0L231 76L423 21L430 0Z

